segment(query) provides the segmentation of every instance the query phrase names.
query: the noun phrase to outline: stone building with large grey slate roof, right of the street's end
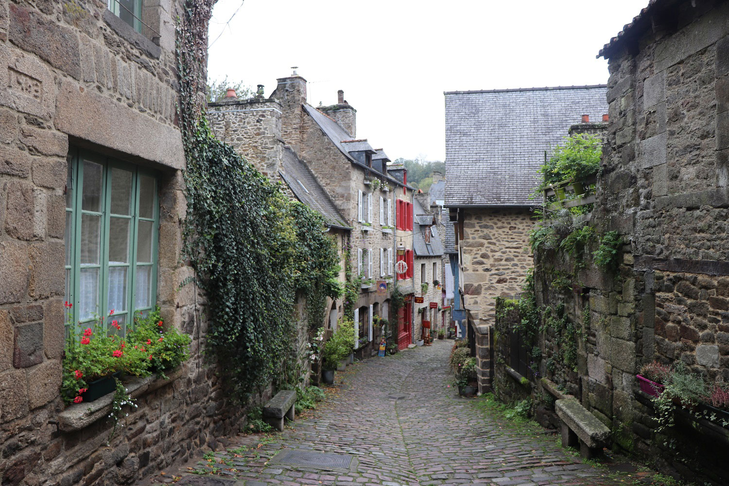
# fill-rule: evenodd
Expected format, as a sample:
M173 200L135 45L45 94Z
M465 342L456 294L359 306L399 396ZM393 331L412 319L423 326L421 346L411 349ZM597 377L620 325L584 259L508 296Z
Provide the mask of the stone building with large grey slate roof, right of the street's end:
M481 391L491 385L496 297L518 294L531 267L530 196L539 166L582 115L607 113L606 89L445 93L445 207L456 223L459 291Z

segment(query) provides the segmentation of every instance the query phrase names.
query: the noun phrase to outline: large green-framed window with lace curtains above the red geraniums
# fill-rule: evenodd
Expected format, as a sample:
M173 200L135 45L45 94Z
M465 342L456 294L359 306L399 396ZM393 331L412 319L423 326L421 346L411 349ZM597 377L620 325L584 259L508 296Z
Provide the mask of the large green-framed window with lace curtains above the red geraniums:
M137 165L71 150L66 184L66 300L71 322L133 323L156 305L157 178ZM66 334L71 329L66 329Z

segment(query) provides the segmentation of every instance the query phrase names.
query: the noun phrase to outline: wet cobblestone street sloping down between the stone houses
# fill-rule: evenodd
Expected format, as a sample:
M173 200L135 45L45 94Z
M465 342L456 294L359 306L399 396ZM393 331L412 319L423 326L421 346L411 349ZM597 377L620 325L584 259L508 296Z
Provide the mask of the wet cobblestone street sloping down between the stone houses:
M436 341L337 374L327 401L283 434L236 436L226 452L166 471L180 485L613 485L646 473L611 473L561 449L558 435L492 417L449 387L452 341ZM343 379L343 383L340 380ZM399 398L399 399L396 399ZM235 452L230 452L235 450ZM344 469L280 462L288 450L351 455ZM206 464L206 466L203 466ZM198 475L217 472L217 477ZM196 469L198 474L190 474ZM220 478L220 479L218 479ZM176 479L176 478L175 478ZM227 484L228 482L225 482Z

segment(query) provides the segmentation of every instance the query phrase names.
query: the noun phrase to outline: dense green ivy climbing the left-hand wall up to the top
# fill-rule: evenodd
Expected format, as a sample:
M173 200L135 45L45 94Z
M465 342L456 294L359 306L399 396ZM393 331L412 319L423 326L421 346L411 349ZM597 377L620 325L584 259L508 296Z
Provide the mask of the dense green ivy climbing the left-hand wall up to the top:
M311 325L337 298L338 256L321 216L289 200L232 146L212 136L203 113L212 0L189 0L178 23L179 124L187 170L184 254L208 297L207 344L225 363L241 401L296 356L296 291ZM285 379L285 378L284 378Z

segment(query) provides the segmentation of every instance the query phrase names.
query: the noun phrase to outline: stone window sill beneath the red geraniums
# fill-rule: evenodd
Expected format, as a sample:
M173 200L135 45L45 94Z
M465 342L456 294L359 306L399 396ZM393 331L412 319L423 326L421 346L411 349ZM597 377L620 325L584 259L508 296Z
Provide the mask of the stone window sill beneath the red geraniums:
M152 375L149 377L135 377L124 385L132 398L136 399L144 395L144 393L155 391L168 383L172 383L174 380L182 377L184 371L185 367L182 365L167 374L168 380L160 378L157 375ZM58 428L64 432L73 432L90 426L92 423L101 420L112 412L113 400L114 393L109 393L89 403L74 404L66 407L63 412L58 414Z

